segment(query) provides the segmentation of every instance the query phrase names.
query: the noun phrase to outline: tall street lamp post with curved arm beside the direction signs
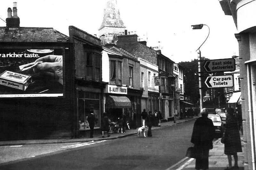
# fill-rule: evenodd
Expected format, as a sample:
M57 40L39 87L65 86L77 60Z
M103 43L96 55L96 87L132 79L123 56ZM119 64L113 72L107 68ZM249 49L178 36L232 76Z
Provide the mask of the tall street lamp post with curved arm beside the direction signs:
M198 24L198 25L192 25L191 28L192 29L202 29L203 26L207 26L205 24ZM207 26L209 29L208 35L206 37L206 39L204 40L204 42L207 40L209 34L210 34L210 28L209 26ZM196 51L198 54L198 83L199 83L199 93L200 93L200 110L203 109L203 94L202 94L202 72L201 72L201 51L200 51L200 47L204 44L204 42L197 48Z

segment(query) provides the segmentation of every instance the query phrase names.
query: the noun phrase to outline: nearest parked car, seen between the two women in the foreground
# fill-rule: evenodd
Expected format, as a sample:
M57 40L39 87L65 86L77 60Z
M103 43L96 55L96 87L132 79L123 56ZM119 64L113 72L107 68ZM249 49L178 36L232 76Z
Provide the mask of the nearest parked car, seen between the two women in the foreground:
M223 134L223 122L220 115L208 115L208 118L212 120L214 128L215 128L215 137L221 138Z

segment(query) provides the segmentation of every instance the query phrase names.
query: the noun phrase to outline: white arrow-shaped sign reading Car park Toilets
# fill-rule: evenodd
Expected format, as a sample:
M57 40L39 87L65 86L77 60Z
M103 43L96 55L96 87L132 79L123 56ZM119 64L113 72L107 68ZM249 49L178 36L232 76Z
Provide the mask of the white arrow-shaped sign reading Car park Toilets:
M208 88L233 87L233 75L208 76L204 83Z

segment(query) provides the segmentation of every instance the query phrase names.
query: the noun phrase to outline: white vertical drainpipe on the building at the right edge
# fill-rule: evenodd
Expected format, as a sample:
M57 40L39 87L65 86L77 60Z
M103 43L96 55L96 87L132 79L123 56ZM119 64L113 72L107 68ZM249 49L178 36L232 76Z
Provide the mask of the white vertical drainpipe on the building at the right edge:
M255 143L254 143L254 121L253 121L253 112L252 112L252 85L251 85L251 65L247 64L247 86L248 86L248 114L250 121L250 135L251 135L251 145L252 145L252 169L255 170Z

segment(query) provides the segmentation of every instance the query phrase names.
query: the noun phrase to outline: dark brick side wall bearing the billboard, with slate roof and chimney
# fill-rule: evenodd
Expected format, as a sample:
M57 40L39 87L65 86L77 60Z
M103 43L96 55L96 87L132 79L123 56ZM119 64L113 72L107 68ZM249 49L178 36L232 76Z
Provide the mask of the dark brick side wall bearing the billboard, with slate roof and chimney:
M53 28L20 27L16 3L13 16L11 8L7 13L6 27L0 27L1 82L7 82L0 85L0 139L71 136L75 77L69 37ZM59 57L62 74L49 73L52 78L19 68L49 54ZM24 77L30 79L21 82Z

